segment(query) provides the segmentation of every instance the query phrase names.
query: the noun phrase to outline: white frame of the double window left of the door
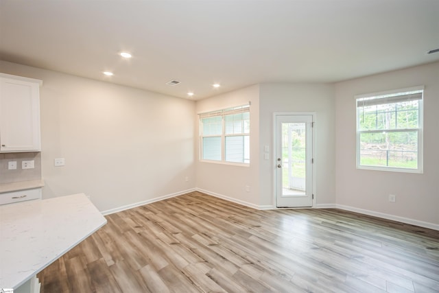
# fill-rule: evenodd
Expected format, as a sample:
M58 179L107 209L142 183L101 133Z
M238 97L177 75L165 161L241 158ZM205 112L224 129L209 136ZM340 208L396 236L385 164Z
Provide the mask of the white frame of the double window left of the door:
M235 106L231 108L225 108L222 110L214 110L207 113L200 113L198 114L199 119L199 138L200 138L200 144L199 144L199 160L204 163L217 163L217 164L224 164L224 165L237 165L237 166L244 166L248 167L250 166L250 130L248 133L232 133L227 134L226 133L226 116L228 115L235 115L239 113L248 113L249 115L249 124L251 124L251 115L250 115L250 102L248 104L244 104L241 106ZM209 118L209 117L222 117L222 130L221 134L203 134L203 119ZM250 127L250 125L249 125ZM220 137L221 139L221 160L209 160L209 159L203 159L203 153L204 153L204 138L206 137ZM248 137L248 143L249 143L249 154L248 154L248 163L243 162L233 162L233 161L226 161L226 138L227 137ZM244 161L246 158L243 158Z

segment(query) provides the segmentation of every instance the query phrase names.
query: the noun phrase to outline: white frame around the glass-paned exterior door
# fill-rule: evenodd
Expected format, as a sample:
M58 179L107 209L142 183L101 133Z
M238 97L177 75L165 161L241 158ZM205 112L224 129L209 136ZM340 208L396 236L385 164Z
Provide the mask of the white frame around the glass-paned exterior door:
M312 188L313 188L313 199L312 199L312 206L308 207L308 208L302 208L302 207L292 207L289 209L312 209L313 207L316 206L316 198L317 198L317 191L316 191L316 166L317 166L317 160L316 160L316 120L317 120L317 115L316 112L274 112L273 113L273 128L272 128L272 178L273 178L273 186L272 186L272 191L273 191L273 196L272 196L272 200L273 200L273 207L274 209L285 209L285 208L279 208L277 207L277 198L276 198L276 192L277 192L277 180L276 180L276 117L278 115L311 115L312 116L312 123L313 123L313 128L312 128L312 152L313 152L313 164L312 164ZM288 209L288 208L287 208Z

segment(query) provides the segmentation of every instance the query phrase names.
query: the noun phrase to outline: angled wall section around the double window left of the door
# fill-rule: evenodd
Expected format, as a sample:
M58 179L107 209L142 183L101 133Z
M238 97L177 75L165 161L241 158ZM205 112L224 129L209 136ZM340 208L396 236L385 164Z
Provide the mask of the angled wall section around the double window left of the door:
M259 86L202 99L196 103L196 113L240 106L250 106L250 167L203 163L199 160L199 139L195 141L196 186L208 194L258 207L259 200ZM195 134L198 137L199 120L195 115ZM250 191L246 191L246 186Z

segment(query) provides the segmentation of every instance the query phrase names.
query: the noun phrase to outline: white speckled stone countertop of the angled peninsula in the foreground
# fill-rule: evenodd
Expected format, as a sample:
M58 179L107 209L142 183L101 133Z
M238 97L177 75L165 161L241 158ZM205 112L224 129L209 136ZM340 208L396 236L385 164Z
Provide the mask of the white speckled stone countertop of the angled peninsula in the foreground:
M18 288L106 222L85 194L0 206L0 288Z

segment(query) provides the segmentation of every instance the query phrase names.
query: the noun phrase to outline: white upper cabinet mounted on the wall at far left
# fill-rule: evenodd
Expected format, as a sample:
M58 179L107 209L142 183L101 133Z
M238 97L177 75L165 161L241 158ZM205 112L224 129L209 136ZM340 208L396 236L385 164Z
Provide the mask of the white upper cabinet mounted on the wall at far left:
M0 152L39 152L41 80L0 73Z

